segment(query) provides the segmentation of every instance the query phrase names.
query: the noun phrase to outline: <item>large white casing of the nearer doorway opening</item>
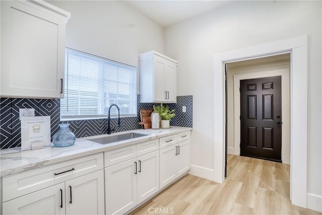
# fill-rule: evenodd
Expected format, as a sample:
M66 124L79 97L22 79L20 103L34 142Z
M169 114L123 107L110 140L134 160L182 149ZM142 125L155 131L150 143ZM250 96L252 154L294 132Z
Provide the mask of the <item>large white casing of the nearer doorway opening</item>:
M306 208L307 196L307 35L217 53L214 66L214 168L213 180L224 181L225 76L224 64L267 56L291 54L291 164L292 204Z

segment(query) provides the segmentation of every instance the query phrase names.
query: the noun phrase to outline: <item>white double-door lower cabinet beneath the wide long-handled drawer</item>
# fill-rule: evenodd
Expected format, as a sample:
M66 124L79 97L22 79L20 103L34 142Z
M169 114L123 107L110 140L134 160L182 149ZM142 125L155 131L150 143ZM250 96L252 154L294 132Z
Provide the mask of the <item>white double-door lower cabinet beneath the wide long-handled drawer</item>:
M104 171L7 201L3 214L104 214Z

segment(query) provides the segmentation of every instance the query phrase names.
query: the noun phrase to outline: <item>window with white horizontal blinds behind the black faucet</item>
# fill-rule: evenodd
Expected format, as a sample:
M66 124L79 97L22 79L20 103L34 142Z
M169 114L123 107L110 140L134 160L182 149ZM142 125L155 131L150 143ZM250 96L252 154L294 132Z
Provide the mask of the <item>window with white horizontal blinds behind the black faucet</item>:
M136 116L136 68L66 48L61 120L106 118L111 104L123 117ZM117 114L112 107L111 116Z

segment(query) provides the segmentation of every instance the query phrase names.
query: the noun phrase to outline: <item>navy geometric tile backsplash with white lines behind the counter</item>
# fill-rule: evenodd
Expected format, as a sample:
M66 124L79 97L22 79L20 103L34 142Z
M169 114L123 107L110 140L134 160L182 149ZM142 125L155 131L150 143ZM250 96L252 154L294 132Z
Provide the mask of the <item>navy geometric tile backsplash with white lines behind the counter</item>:
M182 112L182 106L187 107L187 112ZM121 127L116 127L114 132L139 129L139 111L141 108L152 108L152 103L140 103L137 95L137 117L121 118ZM175 109L176 116L171 119L170 125L192 127L192 96L178 96L176 104L169 104L170 109ZM19 108L34 108L35 116L50 116L51 138L59 130L60 100L59 99L17 99L0 98L0 149L21 146L21 125ZM76 137L92 136L107 133L107 119L72 120L70 130ZM111 119L114 127L117 119Z

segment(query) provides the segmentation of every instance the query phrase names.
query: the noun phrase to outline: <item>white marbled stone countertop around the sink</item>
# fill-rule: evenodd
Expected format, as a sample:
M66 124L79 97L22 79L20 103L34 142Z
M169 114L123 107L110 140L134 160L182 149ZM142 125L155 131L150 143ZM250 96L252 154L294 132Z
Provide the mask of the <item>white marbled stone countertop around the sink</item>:
M192 130L190 127L170 127L169 129L137 129L123 132L117 132L110 135L122 133L143 133L147 136L137 137L135 139L122 140L112 144L98 144L88 140L93 137L103 137L108 134L97 136L77 138L73 146L70 147L49 147L39 150L20 151L19 148L5 149L0 151L0 176L11 175L26 170L35 169L62 161L93 155L108 150L125 147L139 142L149 141L156 138L168 136L171 134L181 133Z

